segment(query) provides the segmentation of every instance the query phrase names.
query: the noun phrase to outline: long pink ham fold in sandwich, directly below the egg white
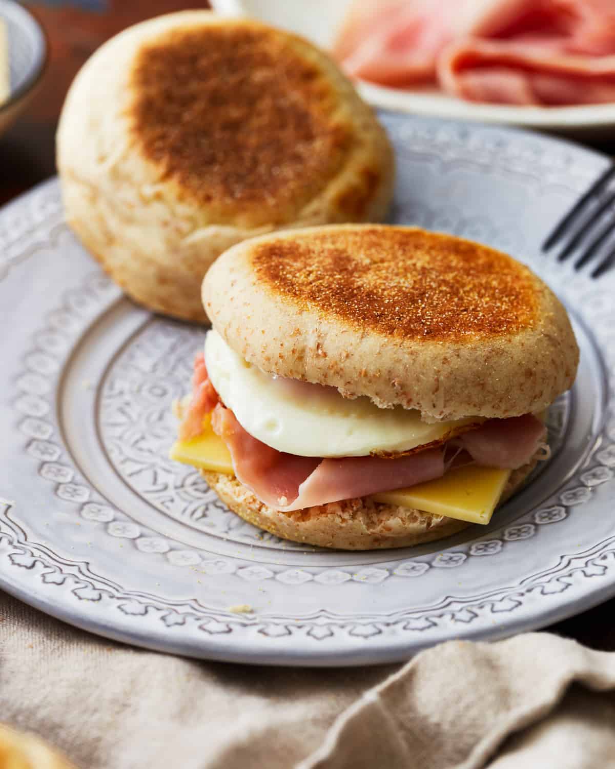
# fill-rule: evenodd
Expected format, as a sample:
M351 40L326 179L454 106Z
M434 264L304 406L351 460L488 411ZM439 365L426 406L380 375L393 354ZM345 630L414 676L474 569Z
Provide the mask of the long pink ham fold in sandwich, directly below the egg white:
M211 426L227 444L238 480L264 504L284 512L405 488L444 474L444 451L437 448L399 459L284 454L253 438L219 403Z

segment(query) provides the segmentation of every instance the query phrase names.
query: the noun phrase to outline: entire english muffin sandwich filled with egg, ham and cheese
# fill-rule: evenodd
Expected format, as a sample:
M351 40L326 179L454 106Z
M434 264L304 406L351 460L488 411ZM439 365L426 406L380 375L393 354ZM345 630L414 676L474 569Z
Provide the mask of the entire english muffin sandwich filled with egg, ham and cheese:
M493 248L347 225L254 238L203 282L212 329L171 456L294 541L394 548L487 524L548 455L566 311Z

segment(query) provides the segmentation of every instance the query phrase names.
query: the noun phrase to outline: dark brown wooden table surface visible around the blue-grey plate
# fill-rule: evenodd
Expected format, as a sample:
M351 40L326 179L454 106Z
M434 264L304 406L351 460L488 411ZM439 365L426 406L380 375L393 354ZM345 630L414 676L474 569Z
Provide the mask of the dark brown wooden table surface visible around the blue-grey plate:
M207 3L73 0L70 5L29 3L28 7L45 27L51 56L42 88L28 111L0 138L0 204L55 174L54 137L62 102L75 72L98 45L142 18L185 7L205 8ZM615 154L615 139L597 148ZM547 629L596 649L615 651L615 599Z

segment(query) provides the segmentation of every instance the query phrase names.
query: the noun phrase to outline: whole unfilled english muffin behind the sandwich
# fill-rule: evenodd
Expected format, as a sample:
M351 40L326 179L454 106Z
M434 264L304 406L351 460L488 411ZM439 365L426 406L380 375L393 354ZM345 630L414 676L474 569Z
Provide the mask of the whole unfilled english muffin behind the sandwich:
M384 129L324 52L208 11L151 19L95 52L57 154L68 222L109 275L198 321L198 284L229 246L379 221L393 184Z

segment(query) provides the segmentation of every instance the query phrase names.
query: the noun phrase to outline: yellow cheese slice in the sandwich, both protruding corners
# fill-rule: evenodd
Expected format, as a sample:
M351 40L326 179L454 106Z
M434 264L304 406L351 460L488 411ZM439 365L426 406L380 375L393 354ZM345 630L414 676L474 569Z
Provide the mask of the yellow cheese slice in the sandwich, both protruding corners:
M233 474L231 454L224 441L211 429L209 418L205 418L203 432L198 438L175 442L171 448L171 459L203 470ZM470 464L450 470L436 481L397 491L383 491L374 494L372 499L460 521L488 524L509 477L510 470L480 468Z

